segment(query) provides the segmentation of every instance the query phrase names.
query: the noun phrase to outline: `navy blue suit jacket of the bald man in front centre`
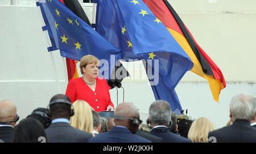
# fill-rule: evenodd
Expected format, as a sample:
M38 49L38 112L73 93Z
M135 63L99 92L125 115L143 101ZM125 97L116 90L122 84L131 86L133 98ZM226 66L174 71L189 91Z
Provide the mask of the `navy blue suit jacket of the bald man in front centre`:
M150 140L131 133L130 130L122 127L113 127L108 132L103 132L93 138L89 143L151 143Z

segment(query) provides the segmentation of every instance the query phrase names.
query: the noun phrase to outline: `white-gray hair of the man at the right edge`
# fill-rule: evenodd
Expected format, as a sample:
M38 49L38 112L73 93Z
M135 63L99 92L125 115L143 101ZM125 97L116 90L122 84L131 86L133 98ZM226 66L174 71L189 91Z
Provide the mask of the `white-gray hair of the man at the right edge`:
M229 108L231 109L234 121L236 119L243 119L250 122L253 120L256 112L256 99L251 95L242 93L233 97Z

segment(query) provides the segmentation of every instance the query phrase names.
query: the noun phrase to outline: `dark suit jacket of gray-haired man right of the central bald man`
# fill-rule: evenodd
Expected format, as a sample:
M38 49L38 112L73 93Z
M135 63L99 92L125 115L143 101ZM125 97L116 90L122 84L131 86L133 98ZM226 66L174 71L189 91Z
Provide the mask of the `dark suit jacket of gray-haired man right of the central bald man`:
M150 134L162 138L163 142L165 143L192 143L191 140L174 134L169 129L166 129L166 127L158 127L158 129L152 129Z

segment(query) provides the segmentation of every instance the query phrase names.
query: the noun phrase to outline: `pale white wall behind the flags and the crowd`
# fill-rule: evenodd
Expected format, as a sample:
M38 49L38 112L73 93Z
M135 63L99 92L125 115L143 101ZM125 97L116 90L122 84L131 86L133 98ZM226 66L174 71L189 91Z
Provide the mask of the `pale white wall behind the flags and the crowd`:
M0 1L0 100L14 101L22 119L35 108L46 107L59 90L39 8L32 1L14 2ZM170 3L200 46L220 67L227 82L219 102L214 102L205 79L187 72L176 87L181 106L188 109L192 119L206 117L216 128L222 127L228 122L228 106L234 95L241 92L256 95L256 1L175 0ZM92 16L92 5L84 9ZM64 61L58 51L52 54L60 92L65 93ZM127 78L122 84L125 101L139 108L145 122L148 107L155 100L147 79ZM117 104L116 93L116 89L110 91L114 104ZM118 94L120 103L122 89Z

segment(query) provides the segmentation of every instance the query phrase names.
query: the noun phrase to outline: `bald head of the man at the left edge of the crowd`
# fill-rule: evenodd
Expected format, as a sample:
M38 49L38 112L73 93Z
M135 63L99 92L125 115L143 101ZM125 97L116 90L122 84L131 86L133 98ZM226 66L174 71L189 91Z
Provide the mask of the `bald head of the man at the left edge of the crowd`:
M12 101L0 101L0 121L13 121L16 117L16 106Z

